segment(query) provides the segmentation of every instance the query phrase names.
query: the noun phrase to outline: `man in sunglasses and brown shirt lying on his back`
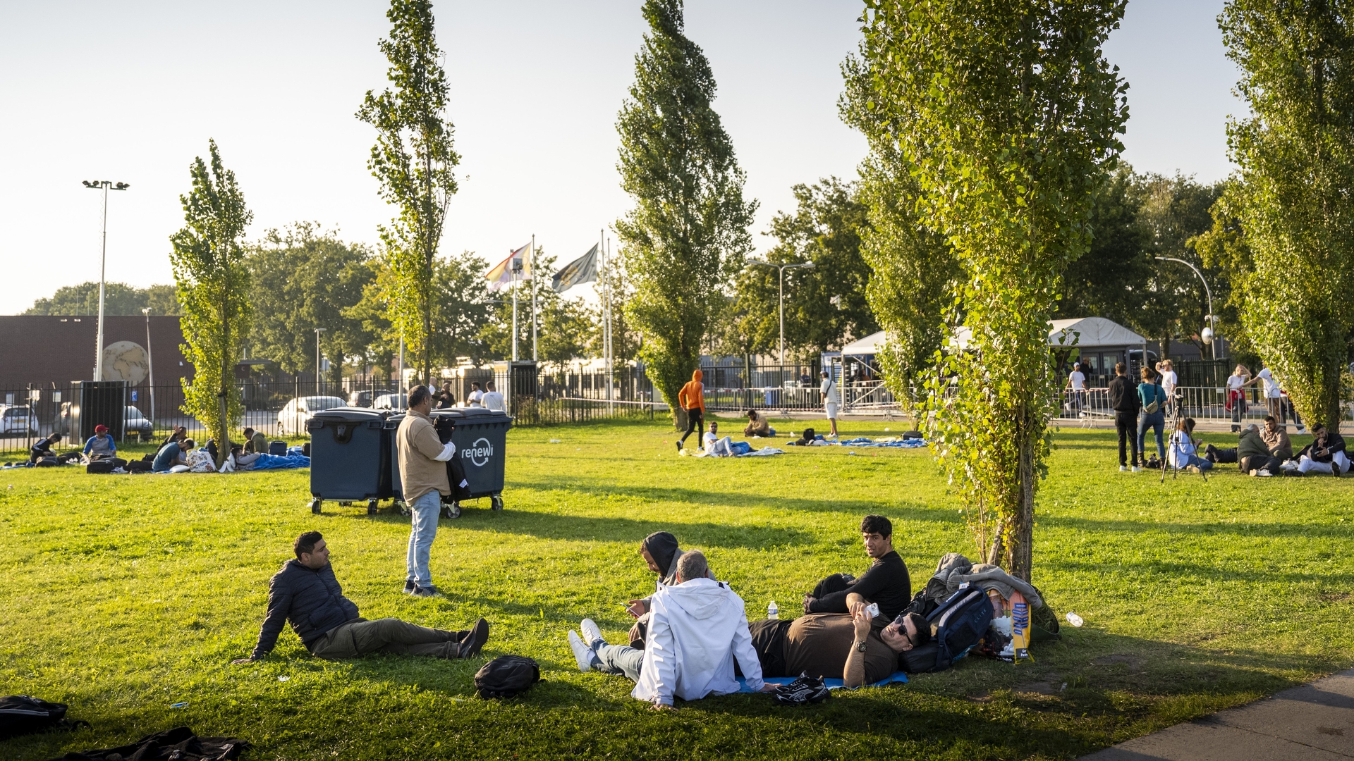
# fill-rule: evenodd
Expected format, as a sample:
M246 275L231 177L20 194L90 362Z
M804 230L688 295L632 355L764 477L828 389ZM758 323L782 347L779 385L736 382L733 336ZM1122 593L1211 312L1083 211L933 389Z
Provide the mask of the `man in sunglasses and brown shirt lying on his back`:
M917 613L902 613L884 627L860 594L849 594L850 613L808 613L793 620L764 619L749 623L753 649L761 661L762 678L839 678L856 688L887 680L906 650L930 642L930 624Z

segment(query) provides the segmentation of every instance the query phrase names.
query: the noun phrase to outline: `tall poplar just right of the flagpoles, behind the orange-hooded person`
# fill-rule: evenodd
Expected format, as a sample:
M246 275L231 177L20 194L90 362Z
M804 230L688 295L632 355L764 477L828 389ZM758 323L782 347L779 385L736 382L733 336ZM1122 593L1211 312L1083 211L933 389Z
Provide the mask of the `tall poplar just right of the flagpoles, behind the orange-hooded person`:
M626 317L654 387L685 421L677 391L700 364L701 345L733 275L751 251L756 202L719 114L715 77L682 34L681 0L647 0L649 34L620 108L617 169L635 207L616 222L634 295Z

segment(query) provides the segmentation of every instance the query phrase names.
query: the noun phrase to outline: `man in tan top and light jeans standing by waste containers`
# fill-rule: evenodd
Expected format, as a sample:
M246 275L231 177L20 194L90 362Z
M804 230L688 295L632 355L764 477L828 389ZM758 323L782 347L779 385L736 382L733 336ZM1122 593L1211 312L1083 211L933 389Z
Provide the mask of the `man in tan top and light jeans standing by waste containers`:
M437 513L441 496L451 494L447 481L447 460L456 454L456 444L441 443L432 424L432 391L428 386L409 390L409 413L395 431L399 451L399 482L405 505L409 506L412 528L409 554L405 558L405 592L416 597L435 597L428 558L432 540L437 536Z

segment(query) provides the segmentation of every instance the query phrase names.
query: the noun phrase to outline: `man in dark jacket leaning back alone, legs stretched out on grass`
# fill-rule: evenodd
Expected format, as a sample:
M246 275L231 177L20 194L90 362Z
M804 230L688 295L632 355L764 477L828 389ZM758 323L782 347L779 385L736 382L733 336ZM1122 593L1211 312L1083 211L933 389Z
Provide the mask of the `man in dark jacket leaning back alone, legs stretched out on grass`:
M343 588L329 563L329 546L318 531L307 531L292 544L295 559L287 561L268 582L268 613L259 631L259 643L248 658L232 664L252 664L272 653L290 623L306 650L317 658L337 661L368 653L401 653L433 658L473 658L489 640L489 622L479 619L468 631L444 631L399 619L368 622L357 605L343 596Z

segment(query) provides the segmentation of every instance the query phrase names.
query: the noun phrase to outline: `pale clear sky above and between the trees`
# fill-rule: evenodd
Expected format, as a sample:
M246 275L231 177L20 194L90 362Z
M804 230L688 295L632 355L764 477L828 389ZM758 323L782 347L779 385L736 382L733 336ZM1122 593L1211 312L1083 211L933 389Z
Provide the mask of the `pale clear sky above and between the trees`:
M639 0L435 4L451 84L460 191L443 252L489 263L531 236L563 264L630 200L616 112L646 24ZM758 199L754 242L791 187L852 179L865 141L841 123L838 65L858 39L850 0L688 0L686 34L719 83L715 110ZM1106 57L1129 81L1125 160L1137 171L1225 177L1236 70L1221 0L1132 0ZM375 244L394 217L355 112L386 85L379 0L0 1L0 314L97 280L112 180L107 279L172 282L188 167L215 139L253 211L249 236L297 221ZM585 290L585 288L575 288Z

